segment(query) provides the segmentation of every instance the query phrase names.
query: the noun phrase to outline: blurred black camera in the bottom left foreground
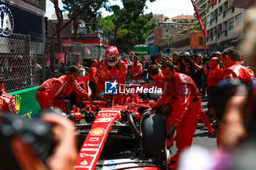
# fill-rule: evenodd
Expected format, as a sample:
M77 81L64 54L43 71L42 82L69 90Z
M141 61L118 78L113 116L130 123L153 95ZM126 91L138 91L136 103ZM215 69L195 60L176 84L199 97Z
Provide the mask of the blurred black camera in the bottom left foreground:
M10 113L0 113L0 169L20 169L15 159L15 150L12 148L12 141L16 138L29 144L44 163L56 144L51 126L39 118L30 120Z

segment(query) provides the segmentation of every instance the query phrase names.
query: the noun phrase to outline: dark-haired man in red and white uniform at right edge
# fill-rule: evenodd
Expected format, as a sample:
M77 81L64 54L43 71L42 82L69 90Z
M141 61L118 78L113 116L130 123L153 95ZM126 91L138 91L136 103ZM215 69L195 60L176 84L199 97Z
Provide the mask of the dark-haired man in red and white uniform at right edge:
M228 47L222 53L222 66L225 69L223 77L227 79L239 79L248 85L255 83L255 74L246 66L242 66L241 52L238 47Z

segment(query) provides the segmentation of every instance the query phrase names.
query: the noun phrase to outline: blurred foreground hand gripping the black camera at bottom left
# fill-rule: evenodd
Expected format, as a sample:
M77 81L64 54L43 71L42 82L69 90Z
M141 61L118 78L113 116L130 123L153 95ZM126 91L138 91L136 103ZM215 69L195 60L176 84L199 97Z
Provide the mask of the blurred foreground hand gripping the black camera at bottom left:
M42 115L42 120L53 125L52 132L57 143L53 154L46 160L46 166L31 146L20 137L12 140L12 148L21 169L26 170L70 170L75 165L78 150L75 139L75 125L58 114Z

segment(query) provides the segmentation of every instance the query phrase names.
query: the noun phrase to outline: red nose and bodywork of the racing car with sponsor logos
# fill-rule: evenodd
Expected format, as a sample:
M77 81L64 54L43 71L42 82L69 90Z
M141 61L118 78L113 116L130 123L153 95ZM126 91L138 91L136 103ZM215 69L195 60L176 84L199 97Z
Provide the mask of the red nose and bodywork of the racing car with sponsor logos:
M101 155L102 149L105 145L105 142L108 139L109 131L113 129L112 124L116 120L121 120L121 112L128 111L130 113L135 113L136 120L140 120L140 114L138 113L139 107L149 108L148 104L154 101L140 101L135 103L138 100L137 94L127 95L124 100L124 104L115 105L115 100L119 96L106 96L104 101L95 101L99 102L97 106L91 106L88 101L83 101L83 104L86 104L87 110L95 112L95 109L99 109L97 116L95 117L94 123L91 125L89 134L87 134L86 139L83 142L82 147L78 155L78 159L75 163L74 169L95 169L99 156ZM108 99L113 98L112 106L108 107ZM129 98L129 99L127 99ZM135 99L136 98L136 99ZM141 169L141 168L129 168L129 169ZM143 166L143 169L159 169L158 167Z

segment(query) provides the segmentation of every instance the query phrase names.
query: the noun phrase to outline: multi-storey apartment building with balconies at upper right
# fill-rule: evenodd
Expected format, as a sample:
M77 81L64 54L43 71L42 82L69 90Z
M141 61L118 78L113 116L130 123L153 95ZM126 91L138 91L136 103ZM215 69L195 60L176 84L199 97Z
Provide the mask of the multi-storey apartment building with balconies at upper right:
M232 7L232 0L208 0L206 45L210 50L225 50L242 38L244 9Z

